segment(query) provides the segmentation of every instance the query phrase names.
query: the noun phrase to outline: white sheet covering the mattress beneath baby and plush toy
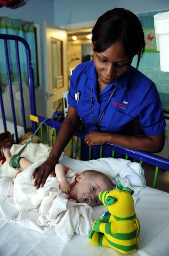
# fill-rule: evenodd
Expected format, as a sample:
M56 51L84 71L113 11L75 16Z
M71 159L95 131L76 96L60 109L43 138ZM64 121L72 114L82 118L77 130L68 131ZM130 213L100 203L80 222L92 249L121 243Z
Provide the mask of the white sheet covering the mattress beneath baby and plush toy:
M132 256L169 255L169 194L144 187L137 195L136 213L141 223L139 251ZM12 197L0 197L11 213ZM104 206L93 208L93 219L104 210ZM13 209L15 211L15 209ZM1 217L0 213L0 217ZM71 241L60 240L57 235L48 235L23 229L18 224L0 221L1 256L120 256L108 247L91 245L87 237L75 234Z

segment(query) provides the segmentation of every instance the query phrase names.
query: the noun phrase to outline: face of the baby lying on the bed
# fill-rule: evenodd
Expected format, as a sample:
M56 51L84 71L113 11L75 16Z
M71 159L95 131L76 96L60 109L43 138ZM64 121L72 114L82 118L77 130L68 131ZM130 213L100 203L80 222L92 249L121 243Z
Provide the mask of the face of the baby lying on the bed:
M77 182L74 186L74 191L76 194L76 200L78 202L82 202L85 196L90 197L91 203L90 206L96 206L101 204L100 199L98 198L98 194L102 190L108 190L110 185L104 181L102 176L97 175L96 177L90 177L88 175L80 174L77 177Z

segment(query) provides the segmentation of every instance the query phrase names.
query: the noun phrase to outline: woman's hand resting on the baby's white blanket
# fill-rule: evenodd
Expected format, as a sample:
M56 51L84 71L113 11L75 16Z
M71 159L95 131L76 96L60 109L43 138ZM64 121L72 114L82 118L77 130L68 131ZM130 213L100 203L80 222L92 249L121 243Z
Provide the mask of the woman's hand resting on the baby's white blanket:
M39 189L39 187L43 187L46 183L46 179L51 174L52 177L55 177L55 165L58 163L58 160L54 160L52 158L48 158L42 165L34 169L32 178L34 179L34 187Z

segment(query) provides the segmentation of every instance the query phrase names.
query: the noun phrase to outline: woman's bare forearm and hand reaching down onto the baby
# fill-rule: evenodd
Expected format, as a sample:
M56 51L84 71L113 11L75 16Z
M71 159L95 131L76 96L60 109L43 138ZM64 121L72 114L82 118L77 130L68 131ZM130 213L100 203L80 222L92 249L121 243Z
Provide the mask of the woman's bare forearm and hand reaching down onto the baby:
M34 187L36 187L36 189L44 186L49 174L51 174L53 177L56 176L55 165L59 162L59 157L62 151L75 133L78 122L79 117L77 110L69 106L68 113L64 119L64 122L62 123L62 127L57 135L57 139L52 150L50 151L48 159L43 162L42 165L37 167L32 174L32 178L36 177L34 181Z

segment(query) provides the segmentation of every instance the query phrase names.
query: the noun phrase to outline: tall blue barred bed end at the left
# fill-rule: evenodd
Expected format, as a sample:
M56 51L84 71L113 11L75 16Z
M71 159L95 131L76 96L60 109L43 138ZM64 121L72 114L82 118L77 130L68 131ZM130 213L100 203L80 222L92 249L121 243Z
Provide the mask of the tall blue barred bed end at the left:
M30 52L30 47L29 47L27 41L25 41L25 39L23 39L22 37L8 35L8 34L0 34L0 39L2 39L4 41L8 86L9 86L9 93L10 93L10 100L11 100L11 110L12 110L12 117L13 117L13 122L14 122L14 131L15 131L15 136L16 136L16 142L18 143L18 131L17 131L17 126L16 126L16 113L15 113L15 106L14 106L14 97L13 97L13 92L12 92L10 63L9 63L9 50L8 50L7 41L8 40L15 41L18 82L19 82L19 88L20 88L21 109L22 109L23 126L24 126L25 133L26 133L25 107L24 107L24 99L23 99L23 88L22 88L21 66L20 66L20 59L19 59L18 42L23 43L23 45L25 46L26 58L27 58L28 86L29 86L29 94L30 94L30 112L32 114L36 114L35 94L34 94L34 77L33 77L33 69L32 69L32 64L31 64L31 52ZM0 107L1 107L4 130L7 130L1 87L0 87ZM37 127L36 123L32 122L33 132L36 130L36 127Z

